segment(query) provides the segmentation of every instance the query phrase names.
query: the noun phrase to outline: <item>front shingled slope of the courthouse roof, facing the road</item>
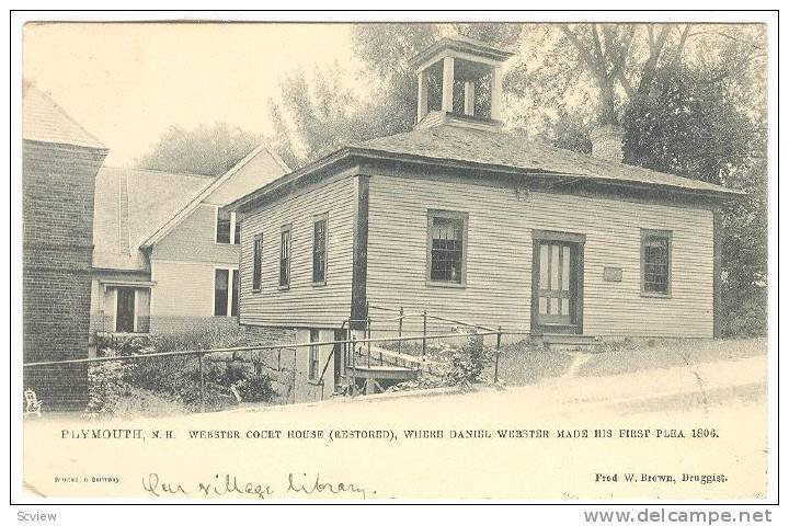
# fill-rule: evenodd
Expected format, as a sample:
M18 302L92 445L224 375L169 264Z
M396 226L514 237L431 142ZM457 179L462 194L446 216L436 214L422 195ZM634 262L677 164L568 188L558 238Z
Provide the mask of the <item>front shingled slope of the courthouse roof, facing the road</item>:
M571 175L595 181L636 183L724 194L741 192L717 184L576 153L525 137L455 125L415 129L351 147L367 152L436 161L461 161L492 168Z

